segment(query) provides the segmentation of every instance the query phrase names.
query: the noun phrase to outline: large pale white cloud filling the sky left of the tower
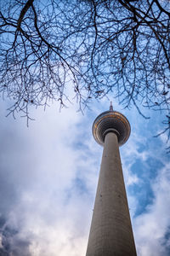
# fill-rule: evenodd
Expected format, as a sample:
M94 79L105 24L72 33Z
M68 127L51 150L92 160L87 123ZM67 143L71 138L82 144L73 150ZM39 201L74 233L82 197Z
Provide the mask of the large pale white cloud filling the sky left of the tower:
M8 226L20 230L15 240L30 242L31 255L84 254L88 220L83 212L89 200L87 195L76 195L74 183L78 166L90 172L93 161L89 166L81 160L83 148L74 150L82 118L73 108L62 113L50 108L38 111L29 128L22 120L3 124L1 166L17 194L12 209L7 207ZM7 204L12 201L10 196Z

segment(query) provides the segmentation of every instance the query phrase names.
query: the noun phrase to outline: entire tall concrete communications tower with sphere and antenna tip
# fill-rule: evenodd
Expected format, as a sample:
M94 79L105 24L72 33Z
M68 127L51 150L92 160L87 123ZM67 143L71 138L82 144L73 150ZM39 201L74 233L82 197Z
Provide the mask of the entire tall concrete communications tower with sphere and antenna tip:
M86 256L136 256L119 153L130 131L127 118L112 104L94 120L94 139L104 151Z

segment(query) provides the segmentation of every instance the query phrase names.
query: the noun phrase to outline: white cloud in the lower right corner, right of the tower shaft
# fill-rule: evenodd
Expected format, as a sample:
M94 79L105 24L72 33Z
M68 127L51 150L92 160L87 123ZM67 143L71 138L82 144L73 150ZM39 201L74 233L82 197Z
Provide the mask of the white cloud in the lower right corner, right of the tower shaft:
M147 207L147 212L134 219L134 232L136 244L140 255L161 256L168 255L164 236L170 226L170 165L161 169L152 184L155 199L152 205Z

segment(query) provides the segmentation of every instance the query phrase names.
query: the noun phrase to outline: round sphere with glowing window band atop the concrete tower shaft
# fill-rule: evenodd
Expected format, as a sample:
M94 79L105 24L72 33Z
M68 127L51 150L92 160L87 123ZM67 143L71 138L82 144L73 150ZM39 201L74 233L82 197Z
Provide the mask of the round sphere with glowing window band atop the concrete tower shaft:
M94 139L100 145L104 145L105 135L108 132L115 132L118 137L119 146L127 142L130 136L130 124L127 118L116 111L106 111L99 114L93 125Z

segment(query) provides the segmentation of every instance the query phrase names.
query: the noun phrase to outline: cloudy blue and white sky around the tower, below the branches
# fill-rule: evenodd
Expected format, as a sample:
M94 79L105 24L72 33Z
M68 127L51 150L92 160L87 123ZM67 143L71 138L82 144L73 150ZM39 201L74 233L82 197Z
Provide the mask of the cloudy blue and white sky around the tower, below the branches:
M85 256L102 148L91 127L110 102L59 113L55 103L26 119L6 118L0 102L0 255ZM139 256L170 255L170 155L160 113L113 106L132 133L120 148L133 233Z

